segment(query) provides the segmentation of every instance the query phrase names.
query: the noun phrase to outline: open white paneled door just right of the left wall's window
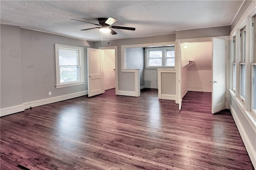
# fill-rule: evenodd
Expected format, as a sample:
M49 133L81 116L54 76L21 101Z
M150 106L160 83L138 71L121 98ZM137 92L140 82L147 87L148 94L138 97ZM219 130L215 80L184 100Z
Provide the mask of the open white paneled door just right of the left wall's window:
M103 93L102 50L87 48L88 97Z

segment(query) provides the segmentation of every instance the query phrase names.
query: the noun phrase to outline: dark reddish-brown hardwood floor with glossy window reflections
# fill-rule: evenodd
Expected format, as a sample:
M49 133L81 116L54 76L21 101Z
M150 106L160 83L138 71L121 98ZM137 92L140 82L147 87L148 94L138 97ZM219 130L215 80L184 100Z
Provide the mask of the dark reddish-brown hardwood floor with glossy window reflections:
M189 92L182 111L157 93L111 89L2 117L1 170L253 169L231 113L209 112L209 93Z

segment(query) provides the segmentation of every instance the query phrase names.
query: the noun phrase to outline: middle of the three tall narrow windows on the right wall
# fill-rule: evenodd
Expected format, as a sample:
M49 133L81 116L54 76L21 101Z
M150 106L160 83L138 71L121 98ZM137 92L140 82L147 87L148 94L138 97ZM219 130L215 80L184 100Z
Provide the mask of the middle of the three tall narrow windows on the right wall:
M245 74L246 74L246 69L245 69L245 58L246 58L246 28L243 28L240 30L240 82L239 82L239 96L241 100L244 102L245 101L245 91L246 91L246 86L245 86Z

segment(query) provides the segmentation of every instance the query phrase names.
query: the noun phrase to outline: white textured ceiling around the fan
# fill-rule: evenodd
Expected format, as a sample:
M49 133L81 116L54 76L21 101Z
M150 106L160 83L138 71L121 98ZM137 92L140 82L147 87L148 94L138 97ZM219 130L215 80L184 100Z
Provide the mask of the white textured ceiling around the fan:
M135 31L113 29L103 39L136 38L174 33L176 30L229 26L243 0L45 0L0 1L1 24L20 26L89 41L100 41L93 24L97 18L116 18L113 26L134 27ZM109 37L108 37L109 36Z

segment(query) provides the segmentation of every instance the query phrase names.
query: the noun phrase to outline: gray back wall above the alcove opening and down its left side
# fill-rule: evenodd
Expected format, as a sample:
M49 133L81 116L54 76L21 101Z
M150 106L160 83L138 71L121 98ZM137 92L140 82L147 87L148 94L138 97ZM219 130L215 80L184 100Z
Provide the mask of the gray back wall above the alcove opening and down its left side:
M120 40L93 42L94 48L115 46L118 50L118 90L120 91L134 91L134 73L122 72L121 68L121 45L142 44L142 43L157 43L157 42L173 42L176 40L175 34L166 34L160 36L149 36L141 38L128 38Z

